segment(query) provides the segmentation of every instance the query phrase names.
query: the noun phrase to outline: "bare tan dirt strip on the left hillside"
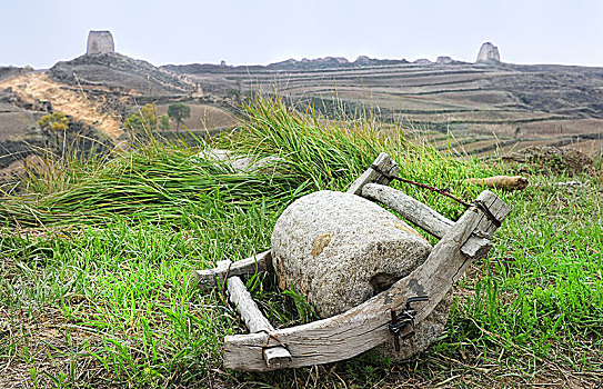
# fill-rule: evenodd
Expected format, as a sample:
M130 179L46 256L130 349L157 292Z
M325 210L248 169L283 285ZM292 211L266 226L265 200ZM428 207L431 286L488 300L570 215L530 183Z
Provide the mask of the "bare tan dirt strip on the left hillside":
M0 89L12 90L26 101L50 101L57 111L70 114L74 120L93 126L112 140L123 132L121 120L113 113L100 113L101 107L86 98L77 89L52 81L44 73L27 73L0 82Z

